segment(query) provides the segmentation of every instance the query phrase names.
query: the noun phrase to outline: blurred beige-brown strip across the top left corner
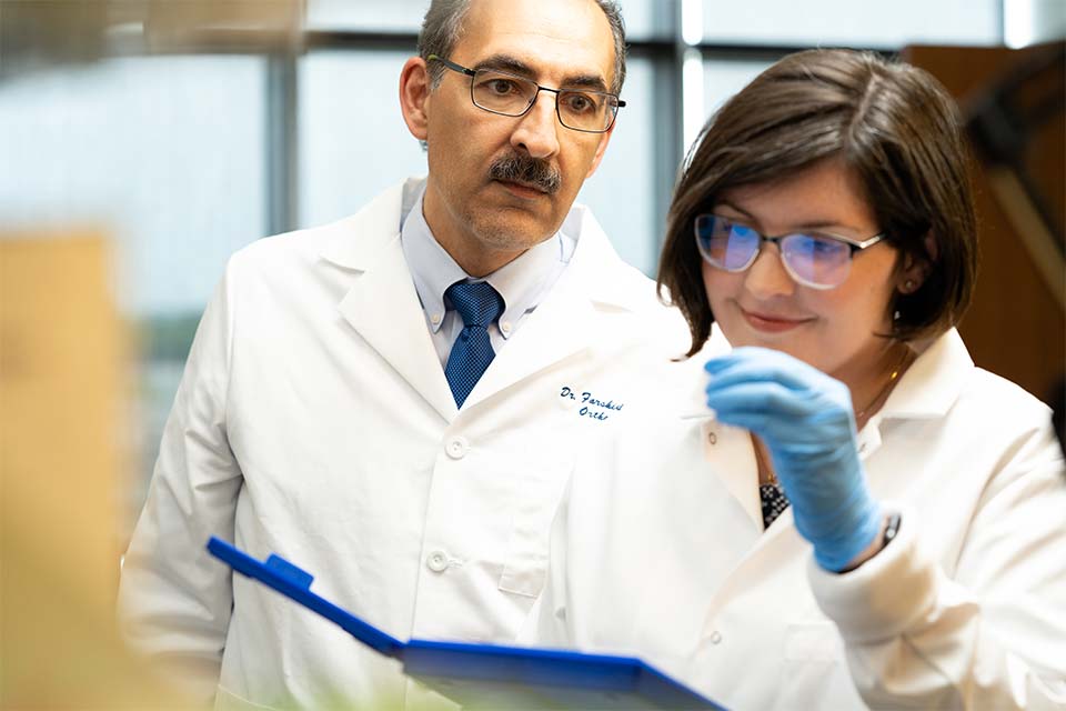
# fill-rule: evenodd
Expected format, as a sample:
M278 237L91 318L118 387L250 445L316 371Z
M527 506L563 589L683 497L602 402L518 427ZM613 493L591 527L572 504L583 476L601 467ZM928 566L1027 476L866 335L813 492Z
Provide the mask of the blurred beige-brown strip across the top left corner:
M304 0L0 0L0 80L118 54L301 51Z

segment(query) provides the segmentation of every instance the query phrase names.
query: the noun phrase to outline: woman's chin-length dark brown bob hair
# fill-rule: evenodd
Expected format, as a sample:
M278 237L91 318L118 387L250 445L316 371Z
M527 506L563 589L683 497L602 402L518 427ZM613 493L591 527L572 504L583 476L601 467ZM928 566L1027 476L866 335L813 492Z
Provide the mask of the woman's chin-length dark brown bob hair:
M693 224L731 189L793 178L827 159L853 171L873 213L905 258L925 268L913 293L896 292L886 334L909 341L955 326L977 268L969 152L955 102L927 72L869 52L791 54L733 97L704 127L674 190L658 290L692 331L711 334Z

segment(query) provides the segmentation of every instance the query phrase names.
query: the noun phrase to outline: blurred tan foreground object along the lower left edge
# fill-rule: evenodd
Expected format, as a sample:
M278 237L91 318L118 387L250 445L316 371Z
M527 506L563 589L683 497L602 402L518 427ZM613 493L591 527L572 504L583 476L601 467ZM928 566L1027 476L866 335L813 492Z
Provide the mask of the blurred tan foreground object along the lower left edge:
M184 705L115 633L124 354L104 239L0 234L0 709Z

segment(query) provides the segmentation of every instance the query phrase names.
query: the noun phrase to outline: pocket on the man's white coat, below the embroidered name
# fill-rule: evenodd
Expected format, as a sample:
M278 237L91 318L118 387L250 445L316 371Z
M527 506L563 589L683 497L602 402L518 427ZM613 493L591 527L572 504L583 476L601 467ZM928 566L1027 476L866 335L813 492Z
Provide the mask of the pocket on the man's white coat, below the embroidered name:
M514 522L500 590L536 598L547 578L549 538L571 468L545 467L517 478Z

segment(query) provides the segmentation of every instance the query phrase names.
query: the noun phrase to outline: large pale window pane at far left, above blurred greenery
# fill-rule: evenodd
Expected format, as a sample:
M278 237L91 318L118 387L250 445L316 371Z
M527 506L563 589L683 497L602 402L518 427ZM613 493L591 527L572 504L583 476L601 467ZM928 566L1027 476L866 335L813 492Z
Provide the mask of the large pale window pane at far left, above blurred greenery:
M199 312L263 226L263 62L115 59L0 84L0 223L103 223L138 316Z

